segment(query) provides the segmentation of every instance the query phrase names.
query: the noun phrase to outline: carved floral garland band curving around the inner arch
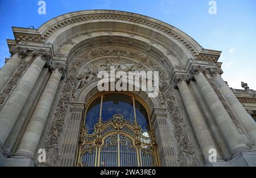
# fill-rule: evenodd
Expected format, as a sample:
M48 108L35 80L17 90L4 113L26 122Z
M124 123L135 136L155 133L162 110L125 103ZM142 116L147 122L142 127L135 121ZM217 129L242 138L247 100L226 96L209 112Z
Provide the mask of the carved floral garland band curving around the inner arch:
M175 104L175 96L172 93L170 82L168 82L168 78L166 74L162 71L158 64L156 64L153 60L149 59L149 57L139 57L142 54L138 51L127 51L124 48L118 47L105 47L98 48L86 51L83 53L78 60L73 61L73 64L68 70L68 77L65 81L63 91L60 96L59 103L57 104L55 110L55 116L52 121L52 125L48 131L46 141L44 143L44 147L47 149L48 154L51 155L47 158L47 165L55 166L57 162L60 160L60 150L59 150L59 142L61 134L63 133L64 126L64 118L68 113L69 105L72 100L72 90L75 86L76 77L75 74L78 72L78 69L81 68L82 64L94 57L101 55L112 54L115 56L127 56L127 54L137 58L139 61L147 64L152 69L159 71L160 73L160 81L162 82L162 91L164 96L167 98L168 107L171 113L172 123L174 123L175 128L175 138L177 140L178 150L179 150L179 160L181 166L187 165L187 159L191 159L192 164L198 165L198 160L195 155L195 151L193 150L192 144L188 139L187 130L185 128L185 124L183 119L181 118L178 107Z

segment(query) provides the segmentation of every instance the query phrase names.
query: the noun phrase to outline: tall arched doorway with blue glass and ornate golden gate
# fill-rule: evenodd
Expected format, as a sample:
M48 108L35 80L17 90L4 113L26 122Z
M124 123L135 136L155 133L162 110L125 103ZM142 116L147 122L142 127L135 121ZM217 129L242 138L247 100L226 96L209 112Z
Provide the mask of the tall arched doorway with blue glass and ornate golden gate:
M146 105L129 93L94 97L85 110L78 166L158 166Z

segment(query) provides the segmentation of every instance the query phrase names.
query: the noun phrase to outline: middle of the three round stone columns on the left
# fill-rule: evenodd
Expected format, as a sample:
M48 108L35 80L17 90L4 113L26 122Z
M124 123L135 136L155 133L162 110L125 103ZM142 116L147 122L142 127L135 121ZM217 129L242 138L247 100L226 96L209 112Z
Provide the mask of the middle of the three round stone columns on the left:
M49 51L43 49L35 49L33 54L37 56L36 59L27 69L26 73L24 73L0 111L0 152L2 152L3 144L10 134L11 129L13 129L14 123L19 117L23 106L26 104L27 98L30 96L39 74L46 64L47 59L49 59Z

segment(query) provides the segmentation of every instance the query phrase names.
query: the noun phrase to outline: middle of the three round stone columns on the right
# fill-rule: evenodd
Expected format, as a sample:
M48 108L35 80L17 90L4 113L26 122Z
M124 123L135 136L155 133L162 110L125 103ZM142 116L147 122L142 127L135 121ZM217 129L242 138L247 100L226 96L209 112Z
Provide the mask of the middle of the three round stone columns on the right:
M226 143L228 143L232 155L235 156L242 151L248 151L249 148L241 140L236 126L234 126L232 119L229 117L225 107L222 105L212 86L210 86L203 72L203 67L193 65L189 71L189 78L195 79L199 85L204 100L209 106Z

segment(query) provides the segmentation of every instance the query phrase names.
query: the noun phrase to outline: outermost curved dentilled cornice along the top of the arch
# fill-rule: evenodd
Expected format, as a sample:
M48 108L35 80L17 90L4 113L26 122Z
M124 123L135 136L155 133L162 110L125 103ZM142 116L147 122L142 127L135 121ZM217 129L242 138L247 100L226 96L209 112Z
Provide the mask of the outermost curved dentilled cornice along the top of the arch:
M47 38L53 34L56 30L65 27L69 24L75 24L77 22L90 22L95 20L121 20L125 22L138 23L140 26L144 25L155 30L161 31L164 34L170 35L172 38L180 42L187 48L192 55L201 58L203 54L215 55L210 57L211 61L217 61L218 51L210 49L203 49L201 46L192 39L189 35L180 31L179 29L164 23L160 20L150 18L148 16L127 13L124 11L112 11L112 10L90 10L90 11L78 11L74 13L64 14L58 16L48 22L44 23L37 30L30 28L13 27L16 43L27 41L36 43L45 43ZM204 58L204 57L203 57ZM208 60L208 57L205 58Z

